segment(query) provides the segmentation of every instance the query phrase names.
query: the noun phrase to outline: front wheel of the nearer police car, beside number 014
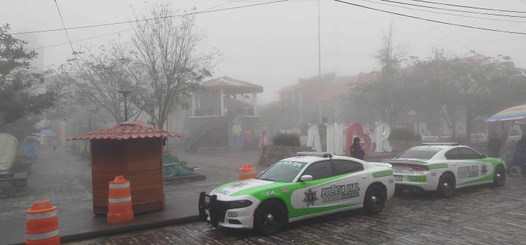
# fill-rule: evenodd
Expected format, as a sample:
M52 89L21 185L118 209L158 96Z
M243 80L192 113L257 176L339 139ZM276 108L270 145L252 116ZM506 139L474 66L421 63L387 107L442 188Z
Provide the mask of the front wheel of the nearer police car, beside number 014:
M287 211L283 204L275 200L269 200L259 204L254 215L254 227L262 235L273 235L287 221Z

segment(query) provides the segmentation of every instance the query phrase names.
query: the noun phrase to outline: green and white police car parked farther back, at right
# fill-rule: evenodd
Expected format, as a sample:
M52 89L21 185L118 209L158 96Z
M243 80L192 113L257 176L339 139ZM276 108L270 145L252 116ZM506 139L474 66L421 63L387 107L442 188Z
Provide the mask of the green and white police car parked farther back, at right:
M457 143L422 144L383 162L393 165L397 190L436 190L443 197L450 197L456 188L506 183L503 160L487 158Z

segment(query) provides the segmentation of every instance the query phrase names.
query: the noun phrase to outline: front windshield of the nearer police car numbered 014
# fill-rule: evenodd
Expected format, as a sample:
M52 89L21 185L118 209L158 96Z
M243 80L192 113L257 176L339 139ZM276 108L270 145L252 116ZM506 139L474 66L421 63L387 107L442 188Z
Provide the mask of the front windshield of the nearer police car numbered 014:
M265 171L259 174L255 179L292 182L305 165L306 162L279 161L265 169Z

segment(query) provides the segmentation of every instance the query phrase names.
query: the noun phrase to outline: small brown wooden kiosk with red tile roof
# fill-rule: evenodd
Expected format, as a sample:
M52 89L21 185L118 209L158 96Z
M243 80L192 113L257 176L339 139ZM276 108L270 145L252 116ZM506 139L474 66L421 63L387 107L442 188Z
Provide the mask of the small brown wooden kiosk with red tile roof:
M90 140L94 214L107 214L108 182L118 175L130 180L135 214L164 209L166 137L180 134L126 122L68 139Z

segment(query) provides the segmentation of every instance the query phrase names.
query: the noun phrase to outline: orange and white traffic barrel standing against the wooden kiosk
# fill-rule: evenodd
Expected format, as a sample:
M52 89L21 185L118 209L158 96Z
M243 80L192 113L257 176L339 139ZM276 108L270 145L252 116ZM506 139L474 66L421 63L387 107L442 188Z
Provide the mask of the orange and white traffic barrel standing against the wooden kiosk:
M119 224L133 221L130 181L116 176L109 181L108 223Z

